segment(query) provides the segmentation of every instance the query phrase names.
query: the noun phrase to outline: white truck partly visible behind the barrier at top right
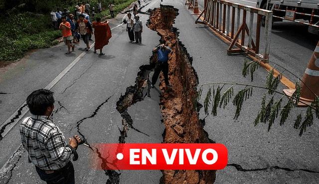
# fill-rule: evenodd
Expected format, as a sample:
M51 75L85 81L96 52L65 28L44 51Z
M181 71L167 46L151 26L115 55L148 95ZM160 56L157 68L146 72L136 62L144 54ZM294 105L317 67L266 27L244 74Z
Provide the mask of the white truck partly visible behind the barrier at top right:
M308 32L319 35L319 0L257 0L256 7L273 11L273 22L307 24ZM265 26L265 17L261 23Z

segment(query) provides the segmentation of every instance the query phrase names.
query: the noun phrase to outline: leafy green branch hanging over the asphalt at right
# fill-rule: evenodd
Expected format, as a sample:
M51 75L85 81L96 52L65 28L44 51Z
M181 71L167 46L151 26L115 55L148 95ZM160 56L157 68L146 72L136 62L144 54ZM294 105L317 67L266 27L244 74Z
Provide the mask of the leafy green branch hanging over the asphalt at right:
M253 81L253 73L260 67L259 61L247 61L245 60L242 74L246 77L250 72L251 81ZM287 71L287 70L285 70ZM289 72L289 71L288 71ZM261 88L265 89L266 93L262 97L261 109L257 113L256 119L254 121L254 125L256 126L258 123L268 123L268 131L271 129L271 126L275 123L275 120L280 117L280 125L283 125L289 117L289 114L293 108L297 106L298 103L303 103L300 101L301 87L299 85L299 80L296 82L296 91L293 93L291 97L289 97L288 102L283 105L283 99L287 96L285 93L277 91L279 82L282 78L282 73L277 77L274 77L274 71L271 69L266 76L266 86L257 86L257 85L249 85L242 84L236 82L214 82L214 83L204 83L196 86L197 96L193 98L193 105L197 104L197 101L200 100L200 96L203 90L203 86L208 85L208 92L206 94L204 100L204 112L206 115L209 113L209 106L211 105L211 115L217 116L217 107L219 108L225 107L229 104L231 98L234 97L232 103L236 107L236 112L234 116L234 120L237 120L240 116L240 112L242 110L242 105L244 101L248 100L250 96L252 96L253 88ZM296 75L295 75L296 76ZM300 80L301 81L301 80ZM220 87L219 85L222 85ZM222 88L224 86L230 85L223 93ZM244 86L241 90L234 95L234 86ZM275 100L275 95L281 95L278 100ZM266 102L267 96L272 95L270 100ZM281 108L284 106L283 108ZM306 131L307 126L311 126L313 124L314 115L316 118L319 118L319 97L316 95L314 102L311 106L308 106L307 113L305 115L304 121L302 115L298 115L294 128L300 129L299 135Z

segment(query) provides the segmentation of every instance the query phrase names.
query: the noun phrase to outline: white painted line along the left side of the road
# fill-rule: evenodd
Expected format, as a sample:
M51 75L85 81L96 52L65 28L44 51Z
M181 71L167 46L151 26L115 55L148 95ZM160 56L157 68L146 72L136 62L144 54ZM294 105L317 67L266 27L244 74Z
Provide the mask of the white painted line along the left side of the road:
M111 30L123 25L124 23L112 28ZM95 44L95 42L93 42L90 45L90 49L92 49L93 45ZM84 51L82 52L74 61L72 61L57 77L55 77L55 79L53 79L47 86L45 86L44 89L48 89L50 90L78 61L80 61L80 59L86 54L87 52ZM4 128L4 131L1 133L1 137L3 138L11 129L12 127L19 122L19 120L29 111L29 108L25 108L26 106L26 101L23 102L23 104L4 122L1 124L0 126L0 130L2 129L2 127ZM22 108L22 110L20 110ZM20 111L19 111L20 110ZM14 119L13 123L10 123L11 120L17 117L16 119Z

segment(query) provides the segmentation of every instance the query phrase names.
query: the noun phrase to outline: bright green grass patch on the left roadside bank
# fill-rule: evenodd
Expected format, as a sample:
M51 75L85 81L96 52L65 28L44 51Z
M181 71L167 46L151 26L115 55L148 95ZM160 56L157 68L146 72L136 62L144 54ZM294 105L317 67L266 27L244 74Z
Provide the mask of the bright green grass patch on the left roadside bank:
M53 30L50 15L29 12L7 16L0 24L0 60L18 61L31 49L48 48L58 43L61 31Z

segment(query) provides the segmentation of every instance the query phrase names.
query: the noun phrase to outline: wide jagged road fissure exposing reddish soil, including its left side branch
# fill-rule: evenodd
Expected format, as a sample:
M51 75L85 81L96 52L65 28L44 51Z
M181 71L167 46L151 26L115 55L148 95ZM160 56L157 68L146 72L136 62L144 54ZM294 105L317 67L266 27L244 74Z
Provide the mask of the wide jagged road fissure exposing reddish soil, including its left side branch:
M172 27L178 9L173 6L160 5L152 10L147 25L160 35L160 43L165 43L172 50L169 55L169 82L171 90L165 88L162 73L160 74L160 110L165 125L163 143L214 143L204 131L204 121L198 118L193 108L193 97L198 84L198 77L192 67L192 58L184 45L178 40L177 29ZM128 107L150 96L150 72L155 67L156 54L150 58L150 64L140 67L136 84L127 88L126 93L117 102L117 110L123 118L123 129L119 143L125 143L129 129L136 129ZM140 133L143 133L139 131ZM159 181L161 184L212 184L215 180L214 170L163 170Z

